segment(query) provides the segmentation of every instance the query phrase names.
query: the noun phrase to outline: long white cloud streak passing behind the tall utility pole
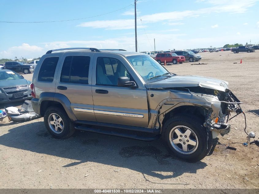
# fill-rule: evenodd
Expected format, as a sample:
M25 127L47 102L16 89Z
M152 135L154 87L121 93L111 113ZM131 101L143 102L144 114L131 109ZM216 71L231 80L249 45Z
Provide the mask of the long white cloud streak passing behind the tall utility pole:
M212 6L202 8L199 10L185 10L185 11L173 11L154 13L141 16L143 24L155 23L161 21L176 21L183 20L189 17L199 17L200 15L210 13L245 13L249 7L255 5L258 0L205 0L204 3ZM125 12L126 13L126 12ZM132 14L130 12L129 14ZM138 23L140 23L138 18ZM177 23L177 22L173 22ZM90 21L79 24L81 27L91 28L104 28L104 29L134 29L134 19L120 19L120 20L107 20L107 21ZM139 26L142 28L142 26Z

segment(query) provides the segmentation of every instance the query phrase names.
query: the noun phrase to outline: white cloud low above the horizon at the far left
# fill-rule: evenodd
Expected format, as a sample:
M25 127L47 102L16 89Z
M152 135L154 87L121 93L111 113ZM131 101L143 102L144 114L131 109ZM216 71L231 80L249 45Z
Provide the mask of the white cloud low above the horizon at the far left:
M0 51L0 56L11 59L13 59L14 57L20 58L21 56L26 58L38 56L38 54L41 53L41 51L43 51L42 47L33 45L31 46L27 43L23 43L20 46L15 46L8 48L5 51Z

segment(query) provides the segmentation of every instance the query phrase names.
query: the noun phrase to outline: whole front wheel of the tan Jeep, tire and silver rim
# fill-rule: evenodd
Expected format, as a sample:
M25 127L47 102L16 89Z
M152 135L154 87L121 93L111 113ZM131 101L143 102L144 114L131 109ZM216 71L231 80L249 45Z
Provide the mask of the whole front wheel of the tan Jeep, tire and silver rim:
M211 132L207 132L203 121L199 117L185 114L173 116L163 124L162 140L170 154L186 162L200 161L209 153L212 145Z

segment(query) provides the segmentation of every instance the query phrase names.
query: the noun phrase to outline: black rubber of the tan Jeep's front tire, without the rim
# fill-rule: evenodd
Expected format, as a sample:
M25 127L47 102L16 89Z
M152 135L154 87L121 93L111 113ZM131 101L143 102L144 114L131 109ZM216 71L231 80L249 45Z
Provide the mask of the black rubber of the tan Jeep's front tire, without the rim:
M170 138L172 138L170 137L170 131L176 126L189 127L195 133L198 139L198 145L196 144L197 148L194 152L189 154L186 154L186 153L182 154L179 152L179 150L177 151L177 148L174 148L172 146L170 142ZM186 162L200 161L209 153L212 145L211 132L207 132L206 128L203 126L203 120L201 120L199 117L190 116L186 114L172 116L163 124L162 140L164 145L166 146L166 149L169 151L170 154L173 154L174 156L181 158ZM171 139L171 141L173 140ZM182 141L187 141L187 140L182 140Z

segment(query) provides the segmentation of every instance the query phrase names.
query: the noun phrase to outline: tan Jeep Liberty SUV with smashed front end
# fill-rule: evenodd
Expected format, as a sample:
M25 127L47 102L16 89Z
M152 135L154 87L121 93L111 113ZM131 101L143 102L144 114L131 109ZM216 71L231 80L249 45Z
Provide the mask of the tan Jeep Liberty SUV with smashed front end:
M75 130L151 141L170 154L203 159L212 139L242 111L228 82L168 72L149 55L122 49L50 50L37 64L32 106L58 139ZM98 127L96 127L98 126Z

